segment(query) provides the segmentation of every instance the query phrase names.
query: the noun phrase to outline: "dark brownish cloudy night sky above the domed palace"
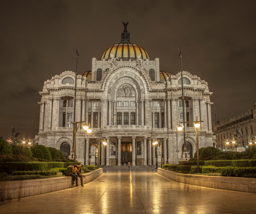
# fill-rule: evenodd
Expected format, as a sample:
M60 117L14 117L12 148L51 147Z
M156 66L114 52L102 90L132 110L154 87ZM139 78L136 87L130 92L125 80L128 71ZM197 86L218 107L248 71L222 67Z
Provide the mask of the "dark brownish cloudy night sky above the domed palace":
M160 70L183 70L208 82L212 118L223 121L252 108L256 77L256 1L0 1L0 137L34 138L43 83L64 71L91 70L105 49L130 41Z

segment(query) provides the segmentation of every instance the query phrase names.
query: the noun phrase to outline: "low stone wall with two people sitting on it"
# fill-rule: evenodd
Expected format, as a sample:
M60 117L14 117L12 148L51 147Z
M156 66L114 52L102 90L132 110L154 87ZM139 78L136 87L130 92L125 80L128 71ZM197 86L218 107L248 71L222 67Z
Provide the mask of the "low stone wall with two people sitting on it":
M88 183L102 174L102 168L88 172L83 178L83 183ZM78 178L80 185L80 178ZM0 199L8 200L26 196L35 196L47 192L65 190L71 187L71 177L56 177L37 180L4 181L0 182Z

